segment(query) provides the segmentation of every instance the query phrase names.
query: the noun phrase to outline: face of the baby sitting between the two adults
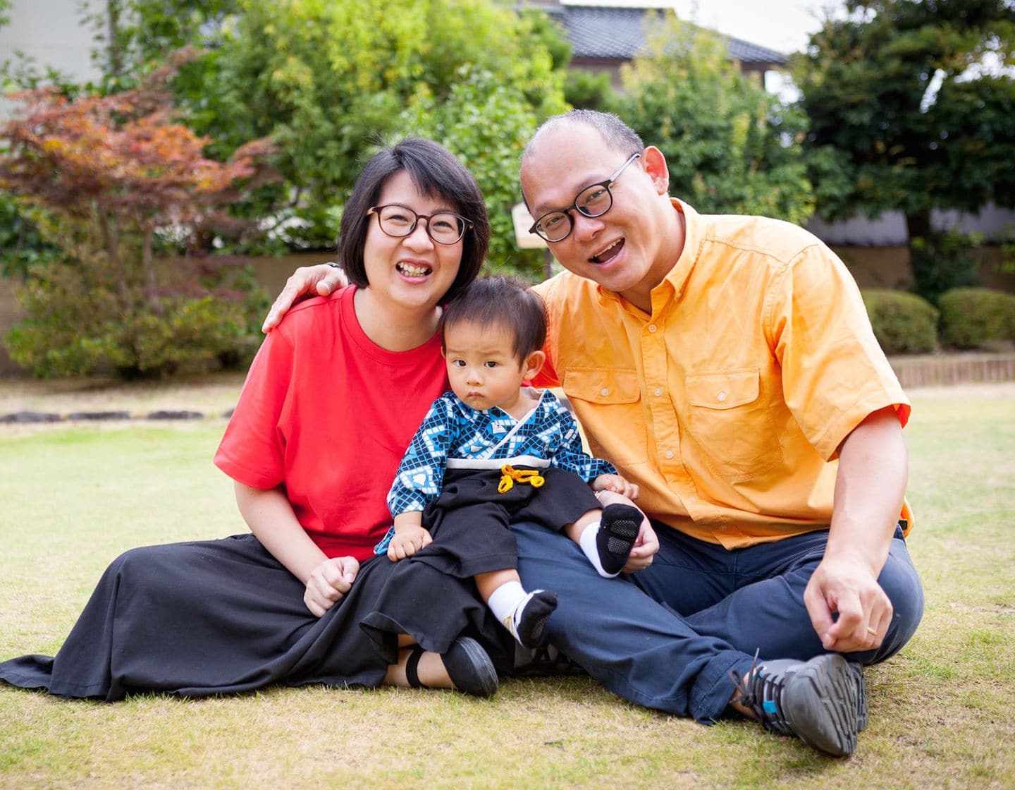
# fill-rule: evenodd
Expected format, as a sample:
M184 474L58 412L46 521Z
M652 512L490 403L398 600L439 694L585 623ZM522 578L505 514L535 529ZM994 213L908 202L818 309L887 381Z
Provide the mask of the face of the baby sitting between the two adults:
M445 358L451 388L474 409L507 410L519 397L527 368L515 355L509 327L460 321L445 327ZM532 375L532 374L530 374Z

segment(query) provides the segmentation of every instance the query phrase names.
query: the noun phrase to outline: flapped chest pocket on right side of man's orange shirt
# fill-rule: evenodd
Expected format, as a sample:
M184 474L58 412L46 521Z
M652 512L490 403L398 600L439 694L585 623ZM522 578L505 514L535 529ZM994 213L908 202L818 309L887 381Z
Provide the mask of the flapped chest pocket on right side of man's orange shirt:
M742 482L782 463L757 368L688 373L690 433L707 462L726 480Z

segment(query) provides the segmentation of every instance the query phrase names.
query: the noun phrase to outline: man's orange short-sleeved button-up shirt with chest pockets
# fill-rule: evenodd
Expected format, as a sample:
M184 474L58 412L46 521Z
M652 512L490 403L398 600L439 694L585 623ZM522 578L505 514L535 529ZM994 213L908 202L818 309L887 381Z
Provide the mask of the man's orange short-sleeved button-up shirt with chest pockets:
M651 315L569 272L536 287L535 383L563 388L654 519L727 548L827 528L839 444L880 408L909 415L860 290L800 227L673 207L684 249Z

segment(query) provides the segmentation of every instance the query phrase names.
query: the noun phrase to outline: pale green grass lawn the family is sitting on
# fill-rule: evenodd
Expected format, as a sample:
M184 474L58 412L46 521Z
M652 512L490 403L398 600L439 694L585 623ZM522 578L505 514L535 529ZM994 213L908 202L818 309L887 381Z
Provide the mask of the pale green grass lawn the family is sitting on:
M272 688L106 705L0 686L0 788L1015 787L1015 385L917 392L910 550L927 611L868 671L849 760L702 727L585 677L453 693ZM52 654L131 546L245 531L211 464L224 421L0 426L0 658Z

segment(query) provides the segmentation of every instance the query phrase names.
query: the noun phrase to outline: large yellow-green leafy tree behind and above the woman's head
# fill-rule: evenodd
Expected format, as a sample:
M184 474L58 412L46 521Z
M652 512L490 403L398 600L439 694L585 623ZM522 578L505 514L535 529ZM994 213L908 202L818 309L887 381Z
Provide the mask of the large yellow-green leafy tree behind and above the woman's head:
M176 87L216 158L275 141L284 180L247 210L270 215L290 246L319 249L334 244L369 146L410 131L402 113L413 103L441 111L463 68L490 75L472 83L486 91L471 95L481 106L503 85L537 120L564 107L561 55L543 18L483 0L238 0L220 45Z

